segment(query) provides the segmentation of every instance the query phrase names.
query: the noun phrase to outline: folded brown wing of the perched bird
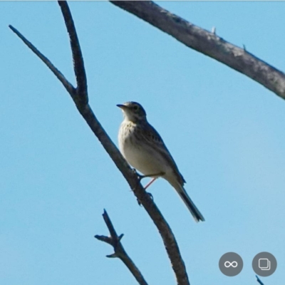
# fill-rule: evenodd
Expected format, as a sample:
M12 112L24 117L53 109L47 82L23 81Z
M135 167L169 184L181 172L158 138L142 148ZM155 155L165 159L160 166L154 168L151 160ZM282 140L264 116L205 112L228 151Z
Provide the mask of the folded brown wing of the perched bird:
M151 147L155 148L157 152L162 155L163 158L169 163L170 167L174 170L175 175L177 176L178 181L181 185L184 185L186 182L183 178L182 174L178 170L178 167L175 163L175 160L173 159L172 155L170 154L169 150L167 149L165 143L163 142L161 136L159 133L157 133L157 130L152 127L149 123L142 126L141 130L145 135L141 136L145 139L145 143L147 145L150 145Z

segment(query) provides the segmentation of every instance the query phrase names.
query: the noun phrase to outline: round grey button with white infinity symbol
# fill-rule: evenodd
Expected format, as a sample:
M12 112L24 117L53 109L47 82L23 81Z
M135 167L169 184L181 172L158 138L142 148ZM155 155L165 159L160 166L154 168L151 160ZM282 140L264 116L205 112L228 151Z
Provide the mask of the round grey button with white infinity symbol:
M236 276L242 271L244 262L235 252L227 252L219 259L219 270L226 276Z

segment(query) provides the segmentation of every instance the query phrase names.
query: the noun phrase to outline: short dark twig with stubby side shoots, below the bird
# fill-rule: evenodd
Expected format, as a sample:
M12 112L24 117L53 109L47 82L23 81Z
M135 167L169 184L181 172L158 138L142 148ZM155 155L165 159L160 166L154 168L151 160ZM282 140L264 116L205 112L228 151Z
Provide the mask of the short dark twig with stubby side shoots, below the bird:
M123 248L123 245L120 242L120 240L123 237L123 234L120 234L120 236L118 236L110 220L110 217L108 216L108 213L105 211L105 209L103 213L103 219L109 229L110 237L95 235L95 238L100 240L101 242L106 242L107 244L110 244L113 247L114 253L107 255L107 257L113 257L113 258L118 257L121 261L123 261L125 266L128 267L130 272L133 274L135 279L138 281L138 284L147 285L147 282L145 281L144 277L140 273L140 270L138 269L137 266L135 266L135 264L133 263L133 260L130 259L127 252L125 252L125 249Z

